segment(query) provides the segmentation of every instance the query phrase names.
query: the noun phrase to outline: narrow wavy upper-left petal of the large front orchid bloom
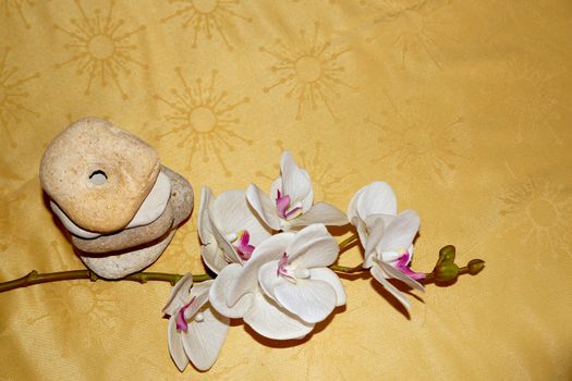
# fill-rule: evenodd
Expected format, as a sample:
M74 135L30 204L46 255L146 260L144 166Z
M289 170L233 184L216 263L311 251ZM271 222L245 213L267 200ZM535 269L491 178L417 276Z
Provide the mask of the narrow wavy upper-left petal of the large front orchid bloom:
M229 284L227 306L233 306L241 296L253 293L258 287L258 270L269 261L278 260L287 251L294 237L293 233L279 233L258 245L238 276Z

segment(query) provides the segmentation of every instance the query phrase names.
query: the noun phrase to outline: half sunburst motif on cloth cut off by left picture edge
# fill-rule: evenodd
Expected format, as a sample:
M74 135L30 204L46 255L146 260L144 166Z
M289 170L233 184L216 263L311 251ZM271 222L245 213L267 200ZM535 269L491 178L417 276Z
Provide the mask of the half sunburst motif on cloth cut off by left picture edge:
M26 84L39 77L39 73L32 75L21 75L17 66L8 63L9 48L5 48L0 57L0 124L5 137L12 148L17 147L17 143L12 134L15 123L22 122L25 114L39 116L39 113L27 108L24 100L28 97Z

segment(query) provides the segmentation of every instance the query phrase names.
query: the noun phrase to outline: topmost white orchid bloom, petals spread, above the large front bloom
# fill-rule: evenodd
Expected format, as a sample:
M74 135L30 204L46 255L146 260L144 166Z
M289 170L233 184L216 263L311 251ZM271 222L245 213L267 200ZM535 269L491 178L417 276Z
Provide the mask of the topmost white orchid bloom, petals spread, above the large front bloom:
M275 180L268 197L256 185L246 190L248 204L260 219L273 230L299 230L312 223L344 225L346 217L334 206L314 202L314 190L308 173L299 168L290 152L280 160L281 175Z

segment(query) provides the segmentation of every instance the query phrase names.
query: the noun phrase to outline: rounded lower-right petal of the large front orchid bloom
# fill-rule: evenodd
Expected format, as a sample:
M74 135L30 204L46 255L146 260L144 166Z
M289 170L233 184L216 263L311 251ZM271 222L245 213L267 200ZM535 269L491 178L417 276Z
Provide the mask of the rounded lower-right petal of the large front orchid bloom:
M308 323L322 321L336 307L336 291L324 281L280 278L275 285L278 303Z

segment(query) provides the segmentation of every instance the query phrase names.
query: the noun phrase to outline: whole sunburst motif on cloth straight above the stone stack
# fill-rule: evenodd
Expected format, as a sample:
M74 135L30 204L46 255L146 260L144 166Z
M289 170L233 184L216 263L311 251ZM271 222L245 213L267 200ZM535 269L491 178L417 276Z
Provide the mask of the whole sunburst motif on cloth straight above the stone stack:
M127 94L121 84L121 76L131 74L134 65L148 69L146 63L135 59L137 46L132 41L132 37L146 27L125 26L123 19L113 15L115 1L109 3L107 12L96 9L93 14L84 10L80 0L75 0L75 4L81 14L80 19L70 19L70 27L54 25L56 29L65 33L70 38L64 48L71 54L70 59L56 64L56 67L75 65L77 76L87 76L86 95L90 93L95 82L101 87L111 84L121 93L123 99L126 99Z

